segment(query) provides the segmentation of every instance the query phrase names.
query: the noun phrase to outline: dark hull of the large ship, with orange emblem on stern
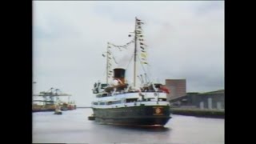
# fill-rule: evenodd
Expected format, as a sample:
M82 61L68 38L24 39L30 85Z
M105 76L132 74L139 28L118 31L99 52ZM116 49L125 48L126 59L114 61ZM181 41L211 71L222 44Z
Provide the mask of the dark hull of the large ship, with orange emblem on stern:
M170 106L133 106L93 109L95 122L127 126L164 126L169 121Z

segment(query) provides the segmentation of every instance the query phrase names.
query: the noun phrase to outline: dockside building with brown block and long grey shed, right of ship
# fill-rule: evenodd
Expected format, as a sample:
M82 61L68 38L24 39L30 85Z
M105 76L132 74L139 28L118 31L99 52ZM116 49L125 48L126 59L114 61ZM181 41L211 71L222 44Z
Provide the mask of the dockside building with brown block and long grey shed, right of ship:
M186 79L166 79L166 87L170 90L170 94L167 94L167 100L173 106L225 109L225 90L186 93Z

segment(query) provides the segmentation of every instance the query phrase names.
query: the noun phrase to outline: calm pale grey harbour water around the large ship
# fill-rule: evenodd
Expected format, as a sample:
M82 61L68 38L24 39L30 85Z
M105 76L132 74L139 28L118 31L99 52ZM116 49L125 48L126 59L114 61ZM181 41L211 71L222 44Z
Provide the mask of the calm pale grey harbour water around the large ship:
M33 113L34 143L224 143L224 119L173 115L164 128L100 125L91 109Z

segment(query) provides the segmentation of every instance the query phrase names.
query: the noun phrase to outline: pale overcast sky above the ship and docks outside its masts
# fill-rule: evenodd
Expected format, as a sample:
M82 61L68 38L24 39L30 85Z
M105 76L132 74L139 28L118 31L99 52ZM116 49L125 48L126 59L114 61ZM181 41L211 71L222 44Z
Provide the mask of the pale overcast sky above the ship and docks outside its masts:
M135 17L154 79L186 78L187 92L224 89L224 1L33 1L34 93L54 87L90 106L94 82L106 79L107 42L130 42Z

